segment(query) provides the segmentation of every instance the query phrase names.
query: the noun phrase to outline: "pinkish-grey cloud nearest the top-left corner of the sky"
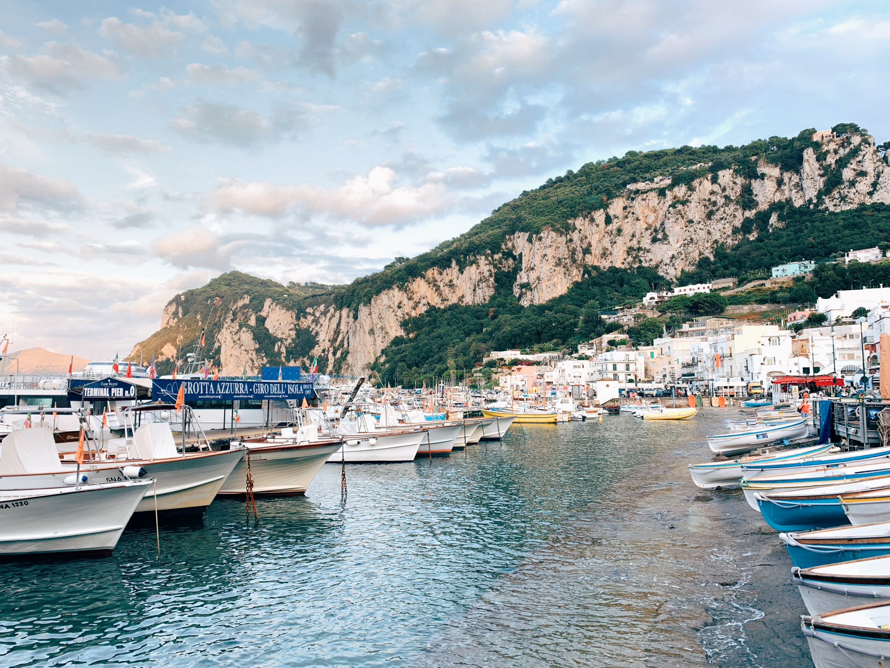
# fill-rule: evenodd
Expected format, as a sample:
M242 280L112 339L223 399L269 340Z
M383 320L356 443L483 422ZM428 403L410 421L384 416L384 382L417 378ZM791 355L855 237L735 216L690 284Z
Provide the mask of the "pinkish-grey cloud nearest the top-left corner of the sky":
M117 66L117 54L92 53L72 44L47 42L35 56L14 56L7 62L13 77L32 86L61 93L65 89L84 88L85 78L117 79L123 77Z

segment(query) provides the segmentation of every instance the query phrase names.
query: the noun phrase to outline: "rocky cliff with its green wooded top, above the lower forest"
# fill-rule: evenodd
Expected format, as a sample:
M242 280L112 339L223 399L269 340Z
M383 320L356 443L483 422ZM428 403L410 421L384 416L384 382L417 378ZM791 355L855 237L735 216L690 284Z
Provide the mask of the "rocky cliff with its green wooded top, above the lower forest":
M635 181L641 174L649 178ZM206 329L205 354L225 374L305 364L315 355L328 371L364 373L404 334L407 317L432 306L485 304L498 281L511 281L514 296L530 305L564 294L593 265L645 265L674 279L718 245L762 233L750 224L760 212L772 228L782 224L780 207L839 211L874 202L890 203L890 167L858 126L739 149L630 151L548 180L456 240L350 286L285 287L225 274L174 297L161 330L131 356L182 359ZM226 278L236 274L237 281Z

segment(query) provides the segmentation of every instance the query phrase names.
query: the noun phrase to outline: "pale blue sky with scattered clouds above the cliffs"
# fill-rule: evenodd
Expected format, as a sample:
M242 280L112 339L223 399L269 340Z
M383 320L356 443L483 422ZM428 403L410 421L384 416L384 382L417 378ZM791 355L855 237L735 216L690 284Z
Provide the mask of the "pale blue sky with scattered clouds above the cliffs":
M548 177L853 121L890 5L0 0L0 336L107 359L220 273L345 283Z

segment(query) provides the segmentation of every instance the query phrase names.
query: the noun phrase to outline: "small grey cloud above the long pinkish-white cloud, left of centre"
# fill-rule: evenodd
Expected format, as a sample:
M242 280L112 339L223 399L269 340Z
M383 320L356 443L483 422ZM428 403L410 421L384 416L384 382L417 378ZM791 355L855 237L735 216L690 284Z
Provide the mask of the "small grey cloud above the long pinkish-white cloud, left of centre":
M170 127L198 143L223 143L246 148L287 138L297 129L309 126L314 118L295 110L280 108L270 118L231 104L198 102L172 118Z

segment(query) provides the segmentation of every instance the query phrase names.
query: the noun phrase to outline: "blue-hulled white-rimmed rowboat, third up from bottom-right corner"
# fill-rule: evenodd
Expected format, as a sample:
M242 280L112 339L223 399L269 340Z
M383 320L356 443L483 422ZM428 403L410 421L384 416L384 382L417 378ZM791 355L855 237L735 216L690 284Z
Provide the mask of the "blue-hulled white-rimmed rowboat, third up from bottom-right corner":
M791 563L812 568L866 557L890 555L890 522L874 525L837 526L802 533L779 534Z

